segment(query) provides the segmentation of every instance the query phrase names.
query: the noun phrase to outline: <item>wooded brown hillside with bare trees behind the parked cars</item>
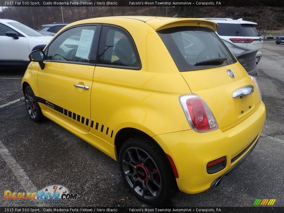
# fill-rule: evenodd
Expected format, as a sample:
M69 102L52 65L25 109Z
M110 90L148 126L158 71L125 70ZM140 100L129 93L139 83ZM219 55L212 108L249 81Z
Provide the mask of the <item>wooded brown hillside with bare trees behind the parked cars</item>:
M4 7L0 18L22 22L36 30L52 22L116 15L227 17L258 23L258 30L283 30L284 7ZM63 20L62 20L63 14Z

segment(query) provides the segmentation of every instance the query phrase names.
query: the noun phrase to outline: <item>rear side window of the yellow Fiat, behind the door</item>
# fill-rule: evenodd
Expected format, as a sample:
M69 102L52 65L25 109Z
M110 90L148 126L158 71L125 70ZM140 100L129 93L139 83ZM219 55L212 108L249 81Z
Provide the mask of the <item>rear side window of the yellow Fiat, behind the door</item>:
M124 67L139 67L132 40L117 28L103 27L99 44L98 63Z

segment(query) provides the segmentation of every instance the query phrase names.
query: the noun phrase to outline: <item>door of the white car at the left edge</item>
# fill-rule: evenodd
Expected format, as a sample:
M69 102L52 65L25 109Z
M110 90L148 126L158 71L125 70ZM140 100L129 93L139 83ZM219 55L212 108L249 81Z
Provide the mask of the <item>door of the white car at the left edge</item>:
M28 39L18 33L18 38L9 37L6 32L16 32L12 28L0 23L0 60L26 60L28 61L29 44Z

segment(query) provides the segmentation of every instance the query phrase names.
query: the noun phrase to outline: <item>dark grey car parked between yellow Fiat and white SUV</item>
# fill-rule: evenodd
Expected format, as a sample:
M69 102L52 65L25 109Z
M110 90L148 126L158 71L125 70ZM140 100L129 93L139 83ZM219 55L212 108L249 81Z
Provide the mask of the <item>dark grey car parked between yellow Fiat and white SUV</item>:
M246 69L249 75L257 75L258 68L256 66L256 53L257 50L250 50L233 43L230 43L224 39L222 41L234 54L242 66Z

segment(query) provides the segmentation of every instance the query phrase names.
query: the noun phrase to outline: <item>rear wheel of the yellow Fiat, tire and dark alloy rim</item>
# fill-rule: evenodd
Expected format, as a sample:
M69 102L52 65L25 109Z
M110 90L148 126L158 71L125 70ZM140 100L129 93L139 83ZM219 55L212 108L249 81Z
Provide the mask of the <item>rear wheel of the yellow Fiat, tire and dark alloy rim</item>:
M125 141L119 152L119 165L130 191L148 205L161 206L176 191L176 180L166 155L147 139Z

